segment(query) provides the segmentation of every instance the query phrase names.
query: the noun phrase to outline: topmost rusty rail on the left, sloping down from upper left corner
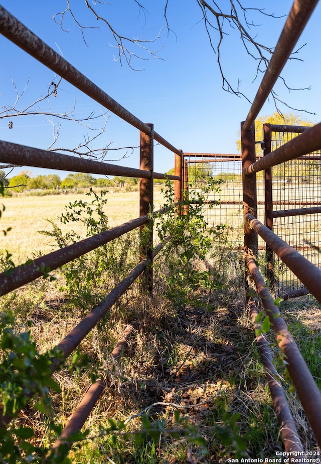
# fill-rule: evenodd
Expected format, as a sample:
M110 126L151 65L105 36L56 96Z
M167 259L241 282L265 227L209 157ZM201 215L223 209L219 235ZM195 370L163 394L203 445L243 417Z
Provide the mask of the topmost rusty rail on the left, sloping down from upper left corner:
M136 127L145 134L150 134L151 129L145 123L136 118L118 102L107 95L100 87L94 84L72 64L49 47L36 34L31 32L24 24L11 15L5 8L0 6L0 32L18 47L25 50L29 55L36 58L42 64L54 71L59 76L79 88L88 97L95 100L115 115ZM154 132L154 139L169 150L182 156L181 150L171 145L167 140Z

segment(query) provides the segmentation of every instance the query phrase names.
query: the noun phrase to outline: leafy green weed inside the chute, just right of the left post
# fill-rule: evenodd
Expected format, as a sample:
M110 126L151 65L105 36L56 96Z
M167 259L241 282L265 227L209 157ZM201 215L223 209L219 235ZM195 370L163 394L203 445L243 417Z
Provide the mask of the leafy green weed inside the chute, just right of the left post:
M163 243L170 235L171 240L164 253L167 265L166 282L168 296L180 306L190 302L193 293L200 288L208 288L210 271L200 271L196 261L205 261L212 248L215 231L208 227L203 216L203 205L209 192L220 189L220 181L213 178L204 183L201 191L183 192L183 200L174 204L173 185L166 181L163 192L166 199L164 208L168 213L158 214L156 229ZM191 186L192 188L192 186ZM197 302L194 300L193 304Z

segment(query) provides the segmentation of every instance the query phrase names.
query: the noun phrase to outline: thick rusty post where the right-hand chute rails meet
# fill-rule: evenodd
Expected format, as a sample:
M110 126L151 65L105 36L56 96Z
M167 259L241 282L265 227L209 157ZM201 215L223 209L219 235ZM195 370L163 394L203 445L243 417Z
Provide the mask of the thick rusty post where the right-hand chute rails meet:
M242 146L242 181L243 181L243 205L244 215L251 213L257 217L256 173L244 175L244 169L255 162L255 125L248 131L243 130L241 123ZM244 248L245 254L250 254L256 259L258 254L257 233L250 229L247 221L244 221Z

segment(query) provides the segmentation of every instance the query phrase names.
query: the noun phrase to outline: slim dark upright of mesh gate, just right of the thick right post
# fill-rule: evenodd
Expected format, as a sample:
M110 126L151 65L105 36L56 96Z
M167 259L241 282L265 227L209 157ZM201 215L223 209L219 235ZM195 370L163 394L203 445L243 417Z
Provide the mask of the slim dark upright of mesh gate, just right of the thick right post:
M271 128L270 124L263 124L264 156L271 153ZM273 230L273 199L272 199L272 168L264 171L265 190L265 225ZM270 281L270 289L274 289L274 265L273 250L266 244L266 276Z

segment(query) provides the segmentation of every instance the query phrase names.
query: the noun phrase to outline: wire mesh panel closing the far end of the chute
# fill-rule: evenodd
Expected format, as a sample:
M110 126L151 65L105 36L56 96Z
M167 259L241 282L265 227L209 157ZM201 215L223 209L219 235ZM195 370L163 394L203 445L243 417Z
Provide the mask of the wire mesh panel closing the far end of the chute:
M241 156L234 154L184 154L184 189L190 200L205 195L204 217L209 227L221 232L222 240L243 247L243 201ZM208 181L214 184L207 193Z

